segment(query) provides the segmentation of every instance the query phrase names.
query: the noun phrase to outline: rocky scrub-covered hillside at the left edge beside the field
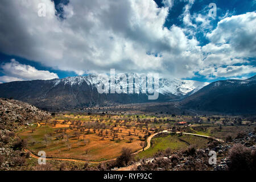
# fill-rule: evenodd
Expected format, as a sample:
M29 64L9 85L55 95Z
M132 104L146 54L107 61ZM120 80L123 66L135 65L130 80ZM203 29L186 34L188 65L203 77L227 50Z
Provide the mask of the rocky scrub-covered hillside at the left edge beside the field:
M25 102L0 98L0 171L22 169L29 154L27 141L15 137L22 123L48 119L51 114Z

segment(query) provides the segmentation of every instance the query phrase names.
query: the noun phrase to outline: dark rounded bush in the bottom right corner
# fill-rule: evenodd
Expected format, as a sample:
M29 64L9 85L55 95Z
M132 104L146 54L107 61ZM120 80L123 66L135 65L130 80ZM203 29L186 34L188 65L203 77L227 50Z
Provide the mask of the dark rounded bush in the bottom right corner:
M250 148L242 144L234 144L229 150L229 159L231 164L230 171L251 171L253 167L253 156Z

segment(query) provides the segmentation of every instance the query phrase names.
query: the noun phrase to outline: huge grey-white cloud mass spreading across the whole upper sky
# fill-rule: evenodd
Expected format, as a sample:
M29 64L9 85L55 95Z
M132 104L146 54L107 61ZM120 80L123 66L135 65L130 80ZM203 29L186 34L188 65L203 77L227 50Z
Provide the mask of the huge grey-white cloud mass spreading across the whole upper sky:
M46 17L38 16L42 2ZM115 68L116 72L158 72L176 78L195 73L220 76L215 72L224 65L247 63L248 57L255 57L256 13L225 17L212 31L207 15L190 15L194 1L185 2L181 18L186 26L167 28L171 0L164 0L163 7L153 0L74 0L59 5L61 16L51 0L2 0L0 52L78 75ZM198 28L210 30L204 32L210 43L203 47L195 37Z

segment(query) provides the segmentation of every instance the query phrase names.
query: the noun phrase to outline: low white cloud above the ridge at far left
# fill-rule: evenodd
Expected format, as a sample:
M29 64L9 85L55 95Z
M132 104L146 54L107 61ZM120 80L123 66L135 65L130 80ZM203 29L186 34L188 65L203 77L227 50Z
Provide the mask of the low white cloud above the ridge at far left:
M23 80L51 80L59 78L56 73L49 71L40 71L30 65L20 64L12 59L9 63L1 65L2 72L5 76L0 77L0 81L23 81Z

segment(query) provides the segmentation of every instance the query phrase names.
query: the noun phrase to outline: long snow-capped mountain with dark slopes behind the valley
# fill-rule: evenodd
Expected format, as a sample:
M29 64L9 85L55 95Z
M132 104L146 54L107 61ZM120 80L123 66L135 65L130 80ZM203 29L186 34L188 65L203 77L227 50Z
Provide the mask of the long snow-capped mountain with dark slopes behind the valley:
M131 73L130 73L131 74ZM198 90L208 83L159 78L159 89L154 84L154 91L159 91L159 97L156 100L148 100L148 85L152 83L147 77L134 74L133 82L129 82L129 74L123 77L115 77L115 84L105 75L88 75L67 77L53 80L32 80L32 81L14 81L0 84L0 97L14 98L15 100L25 101L41 109L47 110L65 110L77 109L95 105L112 105L112 104L131 104L141 102L159 102L177 100L193 90ZM113 79L112 79L113 80ZM136 81L135 81L136 80ZM133 88L139 90L139 93L112 94L99 93L98 86L105 84L107 90L110 88ZM110 84L112 83L112 84ZM121 85L121 86L120 86ZM110 93L110 92L109 92Z

